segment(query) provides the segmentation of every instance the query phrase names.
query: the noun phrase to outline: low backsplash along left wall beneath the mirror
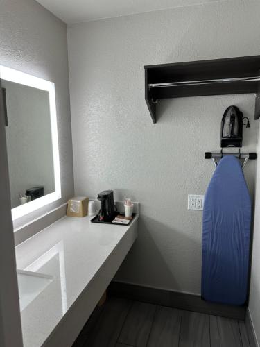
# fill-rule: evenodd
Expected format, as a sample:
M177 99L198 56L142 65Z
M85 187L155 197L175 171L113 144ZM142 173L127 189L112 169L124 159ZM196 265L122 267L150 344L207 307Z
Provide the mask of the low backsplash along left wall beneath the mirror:
M51 224L58 221L58 219L64 217L67 212L67 203L60 205L58 208L51 210L48 213L43 214L41 217L34 219L31 223L27 223L25 226L17 228L15 231L15 246L26 241L33 235L37 234L41 230L47 228Z

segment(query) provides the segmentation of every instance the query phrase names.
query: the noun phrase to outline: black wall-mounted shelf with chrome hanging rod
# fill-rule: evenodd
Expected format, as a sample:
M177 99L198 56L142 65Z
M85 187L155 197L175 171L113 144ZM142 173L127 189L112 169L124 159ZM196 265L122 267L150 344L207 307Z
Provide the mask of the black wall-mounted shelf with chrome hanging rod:
M224 94L256 94L260 117L260 56L146 65L145 98L156 123L159 99Z

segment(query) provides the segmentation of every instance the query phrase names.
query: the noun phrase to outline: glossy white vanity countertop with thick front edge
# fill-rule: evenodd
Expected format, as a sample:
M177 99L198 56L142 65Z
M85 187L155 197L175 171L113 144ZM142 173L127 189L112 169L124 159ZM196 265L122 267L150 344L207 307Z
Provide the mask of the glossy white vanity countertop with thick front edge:
M138 216L130 226L90 219L64 217L16 247L17 269L48 276L21 311L24 347L71 346L137 238Z

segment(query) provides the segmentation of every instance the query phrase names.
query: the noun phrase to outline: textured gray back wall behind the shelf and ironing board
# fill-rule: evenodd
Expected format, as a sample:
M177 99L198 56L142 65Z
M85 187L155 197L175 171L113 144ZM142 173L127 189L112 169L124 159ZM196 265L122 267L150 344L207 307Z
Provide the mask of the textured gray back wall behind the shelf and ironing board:
M141 203L139 238L116 279L200 294L201 212L219 149L220 120L237 105L250 117L243 151L255 151L254 96L159 102L153 124L144 101L144 65L259 54L260 3L221 1L75 24L68 28L76 194ZM255 162L245 167L252 194Z

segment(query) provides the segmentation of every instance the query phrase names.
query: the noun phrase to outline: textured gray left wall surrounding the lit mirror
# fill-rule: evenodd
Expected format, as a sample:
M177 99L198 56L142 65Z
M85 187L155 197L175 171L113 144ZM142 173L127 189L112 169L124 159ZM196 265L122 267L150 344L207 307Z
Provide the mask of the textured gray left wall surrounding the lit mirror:
M0 65L55 83L62 199L17 220L23 224L73 195L66 25L34 0L0 1Z

